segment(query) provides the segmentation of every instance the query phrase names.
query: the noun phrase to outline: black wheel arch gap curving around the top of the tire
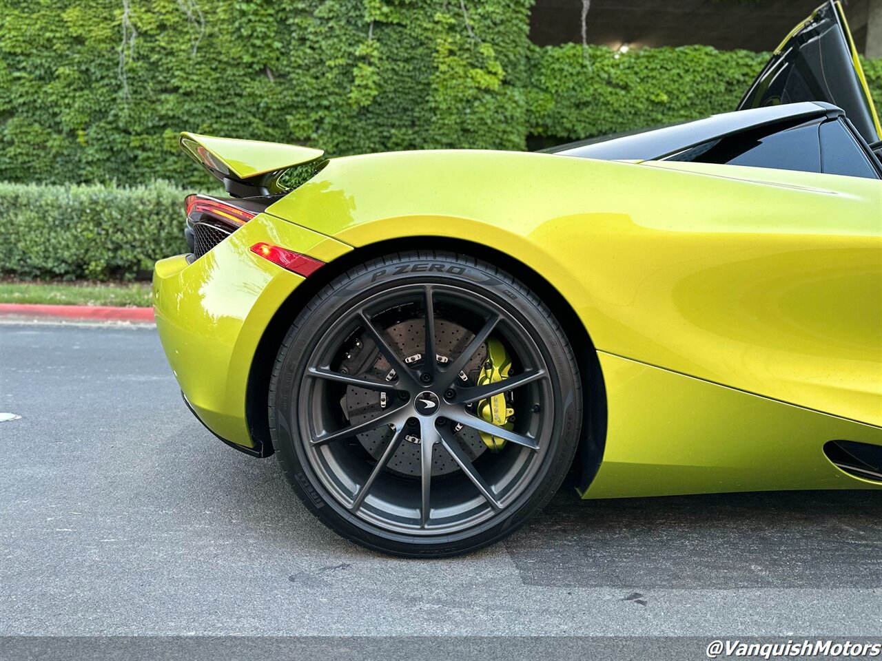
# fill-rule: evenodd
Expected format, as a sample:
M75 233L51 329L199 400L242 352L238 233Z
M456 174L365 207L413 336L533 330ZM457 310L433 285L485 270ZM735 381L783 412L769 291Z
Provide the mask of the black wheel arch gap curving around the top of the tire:
M574 460L574 467L579 472L579 489L582 491L587 489L602 462L606 442L607 401L600 362L597 360L594 343L585 324L581 322L576 311L557 291L557 288L527 264L481 243L448 237L412 236L377 241L353 249L316 271L302 285L296 287L288 299L282 303L266 325L263 336L258 342L258 348L251 362L245 396L245 417L252 438L263 448L262 456L268 457L274 451L266 414L273 363L281 342L295 317L323 287L355 265L394 252L421 249L465 254L497 265L537 293L542 301L546 302L549 309L554 312L572 345L579 365L582 392L585 397L583 410L586 412L586 417L583 420L579 452Z

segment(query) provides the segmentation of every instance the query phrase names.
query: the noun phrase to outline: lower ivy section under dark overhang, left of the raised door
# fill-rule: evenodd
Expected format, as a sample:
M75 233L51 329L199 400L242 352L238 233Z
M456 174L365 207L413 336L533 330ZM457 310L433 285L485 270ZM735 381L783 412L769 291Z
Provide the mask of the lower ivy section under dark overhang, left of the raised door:
M594 137L734 110L767 53L709 46L531 48L527 131Z

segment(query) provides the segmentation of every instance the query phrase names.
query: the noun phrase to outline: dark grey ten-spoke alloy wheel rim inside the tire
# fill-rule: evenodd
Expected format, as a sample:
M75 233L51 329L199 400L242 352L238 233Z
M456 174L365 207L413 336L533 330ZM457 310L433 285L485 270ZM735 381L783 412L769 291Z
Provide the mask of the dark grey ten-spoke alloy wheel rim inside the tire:
M479 385L490 342L511 369ZM511 310L471 289L372 293L330 323L306 364L291 411L305 457L341 511L386 531L453 533L505 515L548 450L543 352ZM505 425L489 403L505 406Z

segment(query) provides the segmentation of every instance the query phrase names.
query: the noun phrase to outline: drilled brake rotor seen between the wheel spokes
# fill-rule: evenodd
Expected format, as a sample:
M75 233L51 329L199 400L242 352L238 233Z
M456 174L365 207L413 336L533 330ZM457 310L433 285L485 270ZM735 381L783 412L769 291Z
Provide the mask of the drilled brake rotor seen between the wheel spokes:
M448 359L459 356L468 342L475 337L474 333L460 324L441 318L436 319L435 335L438 355ZM423 348L425 347L425 323L422 318L395 323L386 329L385 336L392 346L398 347L400 355L405 358L425 351ZM475 385L475 380L486 357L487 349L482 346L475 352L472 360L468 361L463 370L468 376L468 381L462 382L462 385ZM427 360L427 357L422 356L419 360ZM415 366L418 364L418 361L414 362ZM355 345L348 351L348 357L342 361L340 368L345 369L349 374L370 375L379 380L385 379L390 371L389 363L377 351L376 345L369 338L364 337L355 341ZM340 400L340 405L349 424L357 425L364 420L375 418L383 412L384 405L381 397L377 390L348 386L346 395ZM390 405L397 405L397 403L387 401L386 407ZM405 434L416 439L420 434L419 427L415 427L413 432L407 430ZM487 449L481 440L481 435L474 429L462 427L456 433L456 437L470 459L474 460ZM357 434L356 438L372 457L379 459L387 443L392 439L392 428L379 427L370 432ZM400 444L386 470L407 477L416 477L420 475L420 445L413 440L408 441ZM453 461L447 450L440 445L437 446L432 456L432 476L445 475L458 470L459 466Z

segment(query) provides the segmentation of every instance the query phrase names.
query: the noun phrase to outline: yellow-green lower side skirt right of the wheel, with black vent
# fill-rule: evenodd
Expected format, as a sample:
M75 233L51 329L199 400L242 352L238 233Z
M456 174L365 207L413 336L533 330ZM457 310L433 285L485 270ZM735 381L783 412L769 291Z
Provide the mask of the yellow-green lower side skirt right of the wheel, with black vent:
M583 498L872 489L837 468L830 441L882 446L882 428L598 352L608 431Z

